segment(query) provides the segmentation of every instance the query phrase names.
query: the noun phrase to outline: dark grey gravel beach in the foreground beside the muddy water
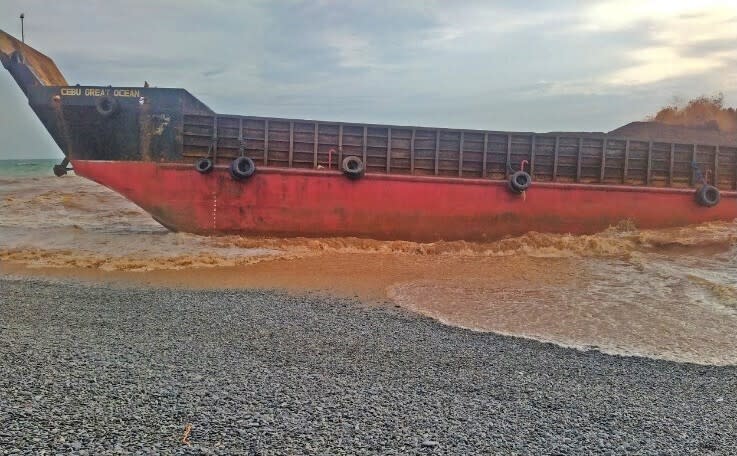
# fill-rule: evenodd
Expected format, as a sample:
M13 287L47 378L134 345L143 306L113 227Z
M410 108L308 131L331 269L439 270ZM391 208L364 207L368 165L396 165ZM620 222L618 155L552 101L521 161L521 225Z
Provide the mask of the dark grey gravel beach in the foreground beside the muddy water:
M0 454L734 454L736 392L346 299L0 278Z

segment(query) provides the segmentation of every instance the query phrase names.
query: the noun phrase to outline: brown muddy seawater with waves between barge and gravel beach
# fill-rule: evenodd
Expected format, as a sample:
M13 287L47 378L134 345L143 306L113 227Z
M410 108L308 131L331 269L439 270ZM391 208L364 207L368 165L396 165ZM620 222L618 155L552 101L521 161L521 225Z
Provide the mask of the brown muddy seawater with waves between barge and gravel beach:
M208 238L82 178L0 166L0 274L329 292L477 331L737 364L737 223L484 244Z

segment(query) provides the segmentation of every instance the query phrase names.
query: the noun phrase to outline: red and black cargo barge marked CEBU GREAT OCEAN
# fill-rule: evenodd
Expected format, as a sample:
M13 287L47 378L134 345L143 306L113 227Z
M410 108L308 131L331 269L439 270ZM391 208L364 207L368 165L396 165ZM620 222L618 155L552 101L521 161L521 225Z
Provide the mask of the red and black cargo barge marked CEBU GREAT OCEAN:
M57 175L171 230L481 241L737 217L737 144L225 115L183 89L69 85L2 31L0 60L66 157Z

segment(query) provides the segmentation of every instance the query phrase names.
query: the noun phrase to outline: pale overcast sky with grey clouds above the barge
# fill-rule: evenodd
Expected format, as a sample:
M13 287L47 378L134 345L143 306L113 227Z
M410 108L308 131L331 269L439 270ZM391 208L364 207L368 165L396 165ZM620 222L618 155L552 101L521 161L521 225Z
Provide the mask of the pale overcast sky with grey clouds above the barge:
M0 0L0 29L20 37L24 12L70 84L232 114L609 131L674 97L737 105L736 0L512 3ZM0 70L0 159L61 156Z

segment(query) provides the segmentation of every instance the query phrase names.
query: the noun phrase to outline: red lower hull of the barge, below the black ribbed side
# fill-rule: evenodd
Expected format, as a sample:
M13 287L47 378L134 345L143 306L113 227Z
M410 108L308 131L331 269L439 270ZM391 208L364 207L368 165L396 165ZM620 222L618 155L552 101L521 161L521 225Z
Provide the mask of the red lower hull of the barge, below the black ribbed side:
M227 168L76 160L75 172L124 195L166 227L198 234L491 240L529 231L594 233L621 221L667 228L737 217L737 192L715 207L692 189L505 181L261 167L246 181Z

